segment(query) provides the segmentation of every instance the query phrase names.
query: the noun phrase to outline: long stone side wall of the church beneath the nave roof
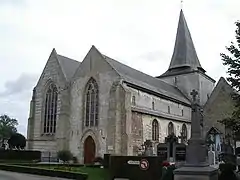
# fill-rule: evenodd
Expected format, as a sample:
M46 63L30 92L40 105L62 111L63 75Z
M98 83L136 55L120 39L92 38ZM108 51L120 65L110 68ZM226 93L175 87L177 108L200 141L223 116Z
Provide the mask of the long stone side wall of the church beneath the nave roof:
M146 140L152 140L152 121L156 119L159 123L159 141L155 142L155 146L159 142L164 142L168 135L168 124L174 124L174 132L176 136L180 136L182 125L186 124L188 131L188 139L191 136L191 108L163 99L157 96L142 92L131 87L127 87L130 92L131 101L131 134L129 135L129 155L136 155L138 148ZM133 96L135 102L133 102ZM152 106L154 102L154 107ZM169 111L170 109L170 111ZM156 153L156 147L154 151Z

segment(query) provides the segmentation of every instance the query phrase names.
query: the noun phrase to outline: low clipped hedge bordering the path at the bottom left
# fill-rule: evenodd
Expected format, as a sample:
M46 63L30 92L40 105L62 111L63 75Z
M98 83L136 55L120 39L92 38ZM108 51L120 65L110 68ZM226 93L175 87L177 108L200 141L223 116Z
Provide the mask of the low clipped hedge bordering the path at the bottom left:
M85 173L50 170L50 169L19 166L19 165L0 164L0 169L5 170L5 171L35 174L35 175L50 176L50 177L76 179L76 180L87 180L87 178L88 178L88 174L85 174Z

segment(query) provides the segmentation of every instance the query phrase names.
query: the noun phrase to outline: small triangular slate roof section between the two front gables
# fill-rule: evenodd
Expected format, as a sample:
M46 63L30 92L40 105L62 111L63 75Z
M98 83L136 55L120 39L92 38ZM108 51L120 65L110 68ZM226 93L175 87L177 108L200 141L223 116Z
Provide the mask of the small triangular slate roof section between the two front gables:
M81 62L59 55L59 54L57 54L57 58L62 67L64 75L69 81L73 77L75 71L77 70Z

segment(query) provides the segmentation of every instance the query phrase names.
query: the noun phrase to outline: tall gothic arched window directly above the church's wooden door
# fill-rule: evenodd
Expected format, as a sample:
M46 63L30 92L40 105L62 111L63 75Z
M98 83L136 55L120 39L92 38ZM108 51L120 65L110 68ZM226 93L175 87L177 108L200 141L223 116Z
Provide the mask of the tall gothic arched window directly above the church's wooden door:
M98 85L91 78L85 90L85 126L92 127L98 125Z

